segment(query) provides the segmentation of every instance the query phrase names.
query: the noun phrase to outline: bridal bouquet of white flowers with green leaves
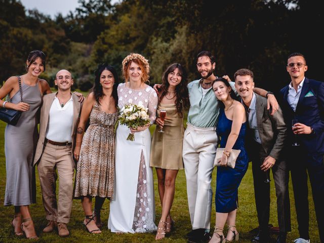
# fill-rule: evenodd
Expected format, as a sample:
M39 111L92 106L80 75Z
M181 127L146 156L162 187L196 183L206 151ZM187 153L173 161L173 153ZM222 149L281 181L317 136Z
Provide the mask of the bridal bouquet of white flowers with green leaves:
M150 123L147 110L141 102L138 105L126 104L120 109L118 120L121 125L126 125L129 128L143 127ZM134 141L134 134L130 133L127 140Z

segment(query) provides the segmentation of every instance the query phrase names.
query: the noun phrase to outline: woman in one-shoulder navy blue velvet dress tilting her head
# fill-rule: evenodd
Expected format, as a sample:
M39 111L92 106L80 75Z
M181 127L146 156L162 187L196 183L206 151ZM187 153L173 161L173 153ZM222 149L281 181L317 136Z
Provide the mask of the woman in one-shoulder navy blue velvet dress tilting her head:
M227 223L226 240L238 240L235 227L238 207L238 186L248 169L248 155L244 147L246 132L246 112L244 106L236 99L229 83L224 78L213 82L213 91L220 102L217 134L221 137L221 148L225 148L216 177L216 223L213 237L209 242L225 241L223 228ZM240 149L235 168L227 167L227 158L232 149Z

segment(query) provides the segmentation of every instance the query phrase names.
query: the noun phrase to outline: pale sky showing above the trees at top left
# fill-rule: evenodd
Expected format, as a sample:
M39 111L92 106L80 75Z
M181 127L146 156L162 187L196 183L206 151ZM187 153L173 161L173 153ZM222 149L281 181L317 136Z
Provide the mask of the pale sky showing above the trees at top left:
M59 12L65 17L69 11L79 6L78 0L20 0L25 9L37 9L39 12L54 18ZM117 0L112 0L114 4Z

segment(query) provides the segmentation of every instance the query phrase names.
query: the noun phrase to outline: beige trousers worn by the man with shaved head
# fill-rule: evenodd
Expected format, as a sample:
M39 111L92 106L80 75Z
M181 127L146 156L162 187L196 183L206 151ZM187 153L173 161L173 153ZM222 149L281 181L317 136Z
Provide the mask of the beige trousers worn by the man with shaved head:
M67 224L70 220L73 196L74 162L71 145L58 146L45 143L37 165L41 182L46 219ZM56 200L56 180L59 175L59 198Z

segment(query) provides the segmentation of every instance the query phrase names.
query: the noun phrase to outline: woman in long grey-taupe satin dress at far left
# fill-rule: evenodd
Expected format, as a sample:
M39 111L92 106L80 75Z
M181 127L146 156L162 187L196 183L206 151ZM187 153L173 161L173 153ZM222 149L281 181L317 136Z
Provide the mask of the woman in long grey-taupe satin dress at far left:
M17 125L7 125L5 131L6 194L5 206L15 206L11 225L15 234L37 238L29 205L35 203L35 173L32 166L37 144L36 114L42 104L42 95L52 93L49 84L38 76L45 71L46 56L42 51L32 51L26 61L27 73L20 76L23 102L20 99L18 77L7 79L0 89L0 106L22 111ZM10 95L11 102L3 101Z

